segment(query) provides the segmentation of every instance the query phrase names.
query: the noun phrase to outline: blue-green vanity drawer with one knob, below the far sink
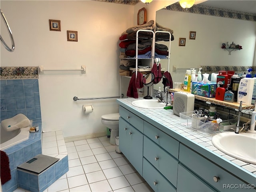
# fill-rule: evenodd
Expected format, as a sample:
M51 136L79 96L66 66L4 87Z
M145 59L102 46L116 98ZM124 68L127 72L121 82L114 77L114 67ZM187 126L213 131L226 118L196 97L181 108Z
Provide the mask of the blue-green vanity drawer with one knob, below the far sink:
M142 120L132 112L126 110L122 106L119 106L119 114L124 120L129 122L132 126L134 126L136 129L143 133L144 120Z

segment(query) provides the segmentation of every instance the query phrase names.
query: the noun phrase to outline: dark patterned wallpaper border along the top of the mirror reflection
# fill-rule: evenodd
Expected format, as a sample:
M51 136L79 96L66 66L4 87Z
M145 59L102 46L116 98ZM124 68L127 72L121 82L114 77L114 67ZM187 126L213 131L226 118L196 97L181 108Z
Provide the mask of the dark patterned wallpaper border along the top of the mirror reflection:
M176 2L172 5L166 7L167 10L170 11L180 11L187 13L196 13L210 16L218 16L218 17L226 17L240 20L248 20L248 21L256 21L256 14L244 13L239 11L232 11L221 8L214 8L210 6L202 6L202 5L193 5L188 10L182 8L179 2Z

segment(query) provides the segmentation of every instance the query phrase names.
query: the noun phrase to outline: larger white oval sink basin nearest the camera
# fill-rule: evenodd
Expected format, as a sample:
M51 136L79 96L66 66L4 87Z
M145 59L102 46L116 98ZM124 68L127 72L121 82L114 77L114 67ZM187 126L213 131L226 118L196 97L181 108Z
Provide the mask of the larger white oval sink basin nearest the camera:
M256 134L219 133L212 137L212 144L229 156L256 164Z

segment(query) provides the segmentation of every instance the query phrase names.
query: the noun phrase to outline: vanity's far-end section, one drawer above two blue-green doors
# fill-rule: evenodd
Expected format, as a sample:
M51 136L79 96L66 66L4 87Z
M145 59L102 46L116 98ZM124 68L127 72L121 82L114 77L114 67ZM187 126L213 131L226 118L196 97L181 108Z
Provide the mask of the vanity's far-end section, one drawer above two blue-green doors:
M122 107L119 109L119 114L119 148L132 166L142 175L143 134L139 130L143 130L144 121Z

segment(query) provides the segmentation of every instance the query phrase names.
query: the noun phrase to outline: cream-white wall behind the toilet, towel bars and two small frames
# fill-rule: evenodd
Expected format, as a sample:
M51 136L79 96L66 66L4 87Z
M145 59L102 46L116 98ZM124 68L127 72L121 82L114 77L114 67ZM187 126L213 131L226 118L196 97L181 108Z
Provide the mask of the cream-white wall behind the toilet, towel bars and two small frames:
M64 137L102 134L103 114L118 112L116 99L73 101L73 97L118 96L119 37L134 24L134 6L97 1L1 1L15 40L14 52L1 44L1 66L80 68L81 72L39 75L44 131L63 130ZM49 30L49 19L61 20L61 32ZM8 39L1 22L1 35ZM78 31L68 42L67 30ZM7 40L6 40L7 41ZM8 43L8 42L7 42ZM92 103L85 115L82 105Z

